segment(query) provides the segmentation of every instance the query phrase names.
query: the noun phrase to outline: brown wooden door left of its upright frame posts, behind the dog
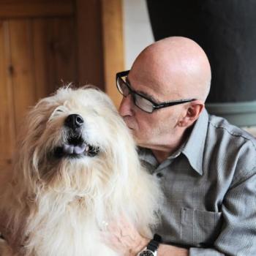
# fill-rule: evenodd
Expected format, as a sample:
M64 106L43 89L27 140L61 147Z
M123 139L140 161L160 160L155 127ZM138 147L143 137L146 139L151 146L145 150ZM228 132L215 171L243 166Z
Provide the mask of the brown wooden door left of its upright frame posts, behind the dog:
M24 1L18 12L20 3L9 1L15 15L7 12L0 20L0 171L12 163L15 138L29 108L59 86L78 81L75 16L67 2Z

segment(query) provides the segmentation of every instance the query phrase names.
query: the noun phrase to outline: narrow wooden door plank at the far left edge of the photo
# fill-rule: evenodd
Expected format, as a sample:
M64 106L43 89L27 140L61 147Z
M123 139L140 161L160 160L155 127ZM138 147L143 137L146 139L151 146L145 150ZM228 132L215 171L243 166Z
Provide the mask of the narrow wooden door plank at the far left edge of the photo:
M15 141L8 23L0 22L0 172L10 165Z

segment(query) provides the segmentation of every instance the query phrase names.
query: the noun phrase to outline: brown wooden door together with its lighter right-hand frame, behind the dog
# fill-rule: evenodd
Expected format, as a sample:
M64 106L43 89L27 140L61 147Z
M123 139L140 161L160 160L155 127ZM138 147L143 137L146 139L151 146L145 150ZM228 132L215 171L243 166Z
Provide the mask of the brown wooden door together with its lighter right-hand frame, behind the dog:
M69 82L118 105L122 69L121 0L0 0L0 186L31 105Z

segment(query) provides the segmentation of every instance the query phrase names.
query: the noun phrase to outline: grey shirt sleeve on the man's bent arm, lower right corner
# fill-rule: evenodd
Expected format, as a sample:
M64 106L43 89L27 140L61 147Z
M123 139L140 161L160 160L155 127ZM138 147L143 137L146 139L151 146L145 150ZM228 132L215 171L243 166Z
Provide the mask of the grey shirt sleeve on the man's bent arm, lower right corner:
M256 255L255 173L241 173L233 180L222 203L223 225L214 248L190 248L190 256Z

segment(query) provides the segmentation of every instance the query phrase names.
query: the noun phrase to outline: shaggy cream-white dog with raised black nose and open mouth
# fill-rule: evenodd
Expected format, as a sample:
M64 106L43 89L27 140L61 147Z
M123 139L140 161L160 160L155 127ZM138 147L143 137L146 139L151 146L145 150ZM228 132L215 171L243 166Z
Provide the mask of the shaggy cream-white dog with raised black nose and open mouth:
M125 216L143 236L156 222L159 189L101 91L59 89L26 118L12 181L0 200L0 255L117 255L105 223Z

